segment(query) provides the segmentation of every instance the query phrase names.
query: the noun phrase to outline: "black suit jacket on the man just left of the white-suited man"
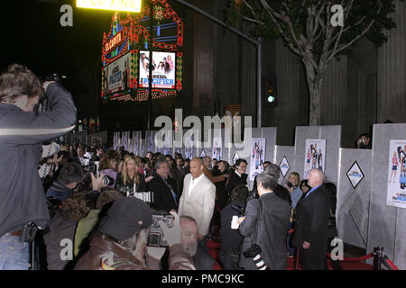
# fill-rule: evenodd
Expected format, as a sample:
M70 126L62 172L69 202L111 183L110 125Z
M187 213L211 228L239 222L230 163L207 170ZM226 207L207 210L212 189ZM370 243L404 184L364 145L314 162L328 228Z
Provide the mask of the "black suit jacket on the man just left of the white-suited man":
M176 182L168 176L168 183L171 184L173 191L176 193ZM173 199L171 189L163 182L160 175L153 174L153 179L148 183L148 191L153 192L152 208L159 211L178 211L179 198L177 202Z

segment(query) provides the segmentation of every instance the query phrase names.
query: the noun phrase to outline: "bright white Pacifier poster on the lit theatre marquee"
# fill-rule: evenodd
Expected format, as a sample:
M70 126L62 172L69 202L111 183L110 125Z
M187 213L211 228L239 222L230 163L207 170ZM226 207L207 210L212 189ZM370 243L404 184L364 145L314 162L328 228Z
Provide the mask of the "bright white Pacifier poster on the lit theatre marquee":
M150 52L140 51L140 87L149 86ZM152 52L152 87L175 89L176 54L170 52Z

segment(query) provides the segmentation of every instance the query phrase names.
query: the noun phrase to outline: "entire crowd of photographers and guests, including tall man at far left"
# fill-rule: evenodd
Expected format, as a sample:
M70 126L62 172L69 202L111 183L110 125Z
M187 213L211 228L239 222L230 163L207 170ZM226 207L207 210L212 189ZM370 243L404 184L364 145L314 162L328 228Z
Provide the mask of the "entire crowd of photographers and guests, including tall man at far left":
M212 270L208 240L227 270L285 269L298 250L303 268L326 267L336 187L320 170L282 186L265 161L250 191L245 159L45 146L74 127L76 108L60 84L19 65L0 77L0 99L0 269Z

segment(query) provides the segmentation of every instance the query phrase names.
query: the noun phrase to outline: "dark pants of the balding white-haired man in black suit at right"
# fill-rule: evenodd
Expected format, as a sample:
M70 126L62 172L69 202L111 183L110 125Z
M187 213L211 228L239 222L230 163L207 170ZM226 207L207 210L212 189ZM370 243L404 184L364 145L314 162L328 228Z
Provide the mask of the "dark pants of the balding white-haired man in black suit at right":
M301 267L303 270L325 270L326 269L327 246L311 246L309 249L300 247Z

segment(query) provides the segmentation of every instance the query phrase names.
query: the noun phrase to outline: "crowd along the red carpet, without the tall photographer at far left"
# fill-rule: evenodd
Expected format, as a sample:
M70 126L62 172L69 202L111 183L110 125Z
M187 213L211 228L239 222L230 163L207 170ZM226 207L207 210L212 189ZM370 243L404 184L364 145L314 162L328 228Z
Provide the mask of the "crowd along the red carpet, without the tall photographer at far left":
M140 157L124 147L60 145L58 155L46 163L52 172L42 183L51 220L37 236L36 260L42 269L213 270L216 260L208 253L208 239L220 242L217 260L226 270L258 269L257 255L263 267L284 269L297 247L303 268L324 269L328 238L337 236L337 231L328 235L335 186L323 184L318 169L301 181L292 172L281 185L279 166L265 161L250 191L245 159L230 166L208 156L185 159L179 153L172 157L149 151ZM305 202L314 188L318 193ZM128 197L129 190L152 192L153 201ZM148 244L154 211L179 220L180 245L169 251L143 247L151 251L145 259L139 249L141 242ZM296 232L288 233L291 229ZM60 257L63 241L73 244L72 256ZM338 263L334 267L340 268Z

